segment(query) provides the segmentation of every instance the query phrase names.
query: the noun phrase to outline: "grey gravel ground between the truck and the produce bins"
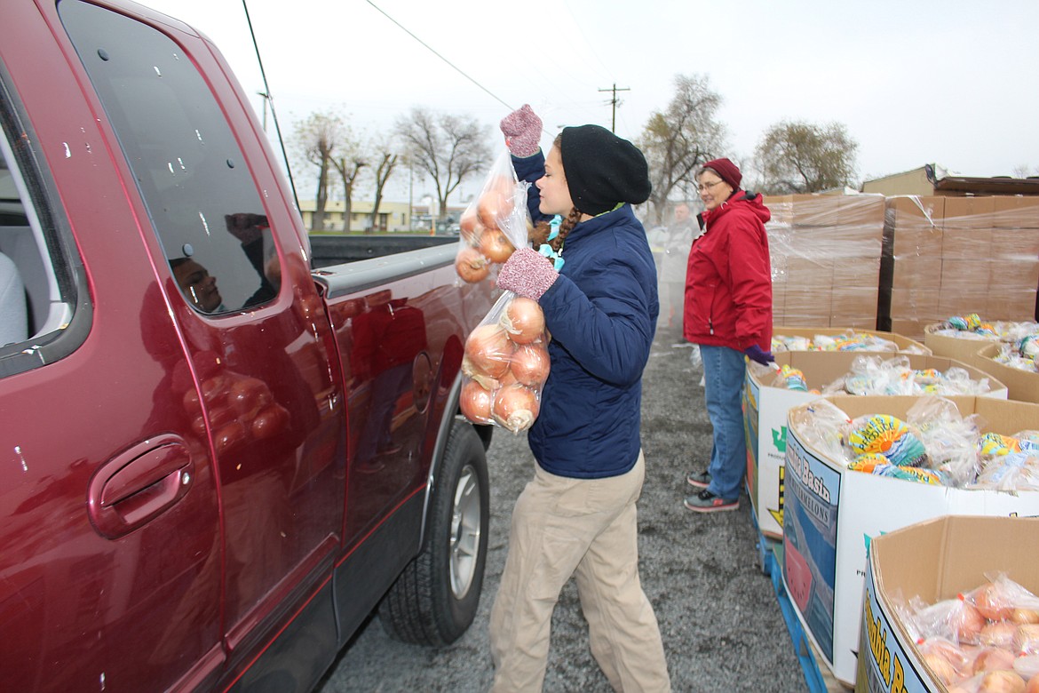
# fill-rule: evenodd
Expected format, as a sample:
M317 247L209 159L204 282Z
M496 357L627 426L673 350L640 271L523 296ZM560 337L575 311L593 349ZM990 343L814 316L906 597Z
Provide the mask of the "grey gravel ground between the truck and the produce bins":
M690 346L658 334L643 376L642 441L646 481L639 501L642 585L660 621L674 691L805 691L800 665L769 578L746 495L737 512L686 510L686 473L711 453L711 424L700 371ZM424 648L391 640L369 621L318 693L489 690L490 605L505 563L512 505L532 476L526 436L502 430L488 450L490 540L476 620L457 642ZM612 689L588 649L587 624L574 582L564 588L552 625L549 693Z

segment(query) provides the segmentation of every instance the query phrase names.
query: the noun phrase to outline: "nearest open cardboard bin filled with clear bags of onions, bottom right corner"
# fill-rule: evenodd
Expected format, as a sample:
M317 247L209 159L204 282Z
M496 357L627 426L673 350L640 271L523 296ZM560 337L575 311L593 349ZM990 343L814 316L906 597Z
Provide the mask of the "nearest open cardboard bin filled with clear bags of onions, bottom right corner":
M945 516L910 525L870 542L862 595L859 631L856 693L945 693L966 682L981 690L1025 690L1025 681L1036 678L1035 644L1030 624L1036 616L1034 595L1039 594L1039 518ZM987 597L1006 579L1007 585L1019 586L1019 598L1027 608L1012 608L1008 618L1002 611L1012 602L1000 605ZM994 581L993 581L994 579ZM1009 592L1010 590L1007 590ZM957 633L941 629L929 637L907 604L916 599L927 611L974 614L994 608L989 615L996 620L967 616L979 627L979 637L971 637L960 620ZM958 603L958 604L957 604ZM948 607L947 605L952 605ZM981 612L979 612L981 613ZM923 615L923 614L922 614ZM952 619L950 619L952 620ZM983 624L984 623L984 624ZM1008 623L1009 628L997 628ZM1024 627L1023 629L1021 627ZM1000 656L984 635L1007 631L1011 645ZM1024 634L1024 637L1020 637ZM1025 644L1024 651L1021 645ZM986 662L981 660L986 657ZM1002 660L995 666L987 664ZM988 671L1001 673L987 673ZM988 681L986 681L988 676ZM1005 688L997 688L1005 686Z

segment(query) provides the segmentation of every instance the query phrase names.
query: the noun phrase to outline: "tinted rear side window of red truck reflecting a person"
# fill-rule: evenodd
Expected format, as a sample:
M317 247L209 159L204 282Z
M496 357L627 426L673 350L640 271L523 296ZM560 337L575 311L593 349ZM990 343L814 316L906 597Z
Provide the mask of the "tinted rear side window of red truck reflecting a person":
M80 0L58 10L184 298L209 315L271 301L281 266L263 201L193 61L123 15Z

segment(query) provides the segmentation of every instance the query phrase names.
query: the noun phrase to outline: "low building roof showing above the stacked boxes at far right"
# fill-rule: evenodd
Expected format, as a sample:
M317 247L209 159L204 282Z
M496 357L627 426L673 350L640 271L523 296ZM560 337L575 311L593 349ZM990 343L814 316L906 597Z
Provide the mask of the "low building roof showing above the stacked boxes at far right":
M967 195L1039 195L1039 178L956 176L936 164L862 183L862 192L882 195L965 197Z

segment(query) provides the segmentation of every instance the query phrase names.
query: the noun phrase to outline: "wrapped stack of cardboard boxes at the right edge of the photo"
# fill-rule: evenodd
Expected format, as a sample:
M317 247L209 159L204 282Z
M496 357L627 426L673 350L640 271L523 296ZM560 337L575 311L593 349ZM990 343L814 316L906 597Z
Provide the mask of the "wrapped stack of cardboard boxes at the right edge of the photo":
M1025 320L1039 288L1039 199L888 197L877 326L914 339L978 313Z

